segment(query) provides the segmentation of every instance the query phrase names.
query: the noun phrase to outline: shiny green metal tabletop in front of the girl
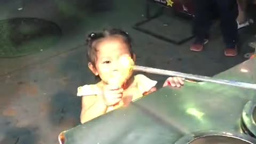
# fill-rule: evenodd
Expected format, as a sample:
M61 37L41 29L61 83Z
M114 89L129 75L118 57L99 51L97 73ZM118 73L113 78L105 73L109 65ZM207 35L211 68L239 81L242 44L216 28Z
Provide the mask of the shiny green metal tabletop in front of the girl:
M256 83L256 59L216 78ZM255 90L209 82L164 87L132 103L61 133L66 144L175 143L197 131L244 135L242 111ZM243 136L243 138L245 138Z

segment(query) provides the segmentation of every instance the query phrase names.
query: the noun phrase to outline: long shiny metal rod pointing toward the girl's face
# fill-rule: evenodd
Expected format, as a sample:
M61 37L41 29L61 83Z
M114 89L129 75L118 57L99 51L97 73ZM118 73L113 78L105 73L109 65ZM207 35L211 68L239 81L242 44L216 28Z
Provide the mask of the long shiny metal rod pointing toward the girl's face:
M212 82L212 83L232 85L232 86L243 87L246 89L256 90L256 84L237 82L237 81L228 81L225 79L217 79L217 78L193 75L193 74L185 74L185 73L180 73L180 72L171 71L171 70L164 70L164 69L157 69L157 68L150 68L150 67L143 67L143 66L135 66L134 70L151 73L151 74L157 74L157 75L176 76L176 77L181 77L186 79L193 79L196 81Z

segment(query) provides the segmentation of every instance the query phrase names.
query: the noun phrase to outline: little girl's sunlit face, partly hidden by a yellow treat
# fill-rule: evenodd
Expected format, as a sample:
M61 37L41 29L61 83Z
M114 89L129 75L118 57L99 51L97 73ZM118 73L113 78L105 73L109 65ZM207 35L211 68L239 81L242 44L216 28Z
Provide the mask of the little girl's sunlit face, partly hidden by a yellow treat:
M115 75L116 72L120 71L119 58L122 56L129 56L129 47L126 45L122 37L111 36L103 38L97 47L97 59L95 60L95 67L92 63L89 63L89 68L92 70L94 75L100 76L101 80L109 84L111 76ZM133 61L135 60L135 55ZM129 79L127 77L126 79Z

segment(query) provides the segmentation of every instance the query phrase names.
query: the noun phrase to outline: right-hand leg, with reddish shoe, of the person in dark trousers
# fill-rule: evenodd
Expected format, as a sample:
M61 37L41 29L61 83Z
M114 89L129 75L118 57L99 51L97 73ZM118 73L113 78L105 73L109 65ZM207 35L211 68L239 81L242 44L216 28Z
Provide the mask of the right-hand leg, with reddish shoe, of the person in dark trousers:
M216 0L220 13L221 30L223 40L226 44L225 55L237 55L236 44L238 41L238 30L236 18L238 15L238 5L234 0Z

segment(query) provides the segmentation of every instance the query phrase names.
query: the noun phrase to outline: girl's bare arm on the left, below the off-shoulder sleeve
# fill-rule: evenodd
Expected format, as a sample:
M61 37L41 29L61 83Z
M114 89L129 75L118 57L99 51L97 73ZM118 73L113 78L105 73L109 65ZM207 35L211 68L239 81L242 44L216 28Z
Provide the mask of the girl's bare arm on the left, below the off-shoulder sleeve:
M82 97L82 111L80 116L82 124L95 117L106 114L106 111L107 106L99 96Z

